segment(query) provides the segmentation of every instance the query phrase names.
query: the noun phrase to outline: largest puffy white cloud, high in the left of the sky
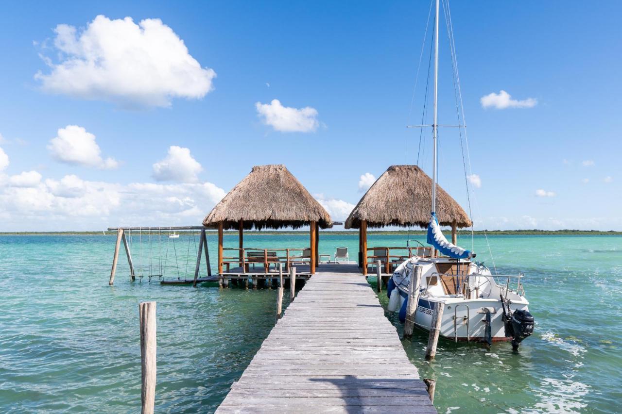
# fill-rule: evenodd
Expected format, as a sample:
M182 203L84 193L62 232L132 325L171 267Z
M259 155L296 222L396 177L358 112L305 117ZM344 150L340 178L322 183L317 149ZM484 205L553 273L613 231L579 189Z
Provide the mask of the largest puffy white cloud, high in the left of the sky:
M124 105L170 106L172 98L203 98L215 71L201 67L177 34L160 19L97 16L85 29L59 24L54 47L60 62L44 60L42 88L83 99Z

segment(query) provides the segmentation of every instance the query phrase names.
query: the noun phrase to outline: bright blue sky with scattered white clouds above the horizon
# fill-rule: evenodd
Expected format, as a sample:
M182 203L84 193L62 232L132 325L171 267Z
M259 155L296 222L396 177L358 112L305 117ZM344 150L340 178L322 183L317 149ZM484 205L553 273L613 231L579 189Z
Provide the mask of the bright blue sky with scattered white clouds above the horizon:
M264 163L287 165L333 219L344 219L363 195L361 175L416 162L419 131L405 126L422 113L427 46L412 111L411 98L429 6L7 4L0 230L199 223ZM472 173L481 181L477 227L621 230L622 4L451 6ZM95 24L97 16L105 18ZM133 22L117 21L125 17ZM142 31L143 19L160 19L155 37ZM440 28L440 122L453 124ZM86 50L87 40L108 46ZM72 60L95 67L78 71ZM483 108L483 96L501 91L514 106L533 99L523 104L531 107ZM441 133L440 185L466 207L457 133ZM430 147L427 139L420 162L429 173Z

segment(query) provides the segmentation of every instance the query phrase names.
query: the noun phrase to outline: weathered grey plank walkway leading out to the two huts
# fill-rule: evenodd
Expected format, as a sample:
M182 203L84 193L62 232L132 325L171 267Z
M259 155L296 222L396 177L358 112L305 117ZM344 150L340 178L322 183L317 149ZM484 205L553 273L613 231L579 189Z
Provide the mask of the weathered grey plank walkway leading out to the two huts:
M356 265L321 265L216 413L435 413Z

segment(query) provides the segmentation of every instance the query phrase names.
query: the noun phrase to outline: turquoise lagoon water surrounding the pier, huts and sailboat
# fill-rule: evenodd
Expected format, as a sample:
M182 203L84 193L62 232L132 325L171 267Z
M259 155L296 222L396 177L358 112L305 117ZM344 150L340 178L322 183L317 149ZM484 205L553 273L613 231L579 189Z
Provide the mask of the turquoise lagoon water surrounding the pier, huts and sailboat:
M215 237L208 240L215 263ZM244 239L249 247L304 247L308 240ZM369 246L405 241L369 236ZM460 241L470 247L470 237ZM225 244L234 247L236 237L225 236ZM485 239L473 244L492 266ZM518 355L509 344L486 351L440 341L431 363L424 361L427 334L403 340L422 377L437 379L439 412L620 412L622 237L494 236L490 245L500 274L527 275L536 333ZM192 237L182 235L175 246L165 239L162 255L167 246L166 277L177 278L175 253L180 276L190 276ZM356 236L322 234L320 253L337 246L348 246L356 259ZM109 287L113 249L113 236L0 236L0 412L137 412L139 301L157 301L157 412L215 410L274 326L270 288L130 282L124 254ZM157 251L154 242L155 264ZM136 237L132 252L139 267ZM381 301L386 305L384 294ZM401 332L396 316L389 319Z

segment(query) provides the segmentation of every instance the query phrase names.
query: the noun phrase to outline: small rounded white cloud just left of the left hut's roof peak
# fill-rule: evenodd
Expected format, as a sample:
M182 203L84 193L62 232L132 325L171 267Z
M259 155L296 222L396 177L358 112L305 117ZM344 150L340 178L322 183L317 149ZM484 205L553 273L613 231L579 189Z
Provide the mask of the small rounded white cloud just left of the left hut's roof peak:
M190 149L171 145L164 160L153 165L153 177L157 181L196 183L197 174L203 167L190 154Z

